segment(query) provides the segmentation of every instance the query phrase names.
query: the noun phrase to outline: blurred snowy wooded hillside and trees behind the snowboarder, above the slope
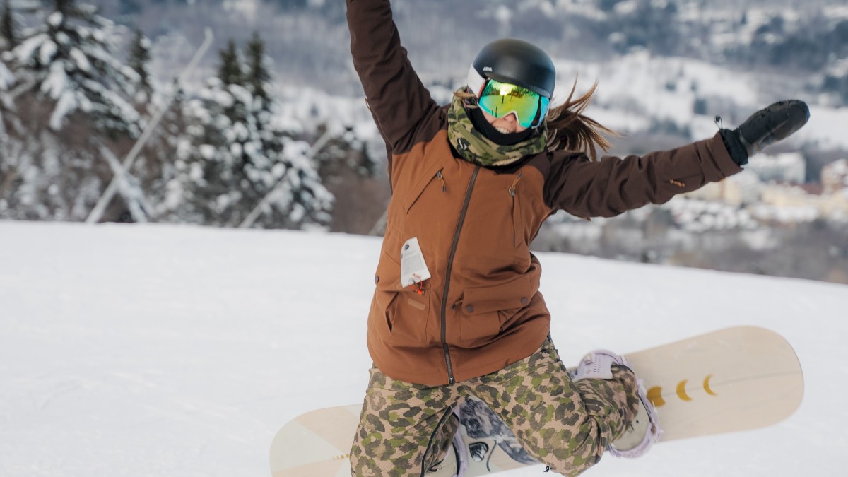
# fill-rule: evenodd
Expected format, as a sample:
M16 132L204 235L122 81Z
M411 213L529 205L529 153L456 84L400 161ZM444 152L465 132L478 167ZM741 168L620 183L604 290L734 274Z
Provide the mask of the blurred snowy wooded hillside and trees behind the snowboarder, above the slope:
M380 233L385 149L343 1L0 8L0 218ZM733 127L774 100L805 99L810 124L767 151L796 154L800 180L751 166L728 185L745 189L733 204L674 199L592 223L560 214L534 246L848 281L848 184L839 173L822 182L848 158L843 2L395 0L393 11L439 102L500 36L550 52L555 100L572 81L578 93L598 81L588 113L622 133L611 154L676 147L715 134L716 115ZM762 203L775 194L785 198Z

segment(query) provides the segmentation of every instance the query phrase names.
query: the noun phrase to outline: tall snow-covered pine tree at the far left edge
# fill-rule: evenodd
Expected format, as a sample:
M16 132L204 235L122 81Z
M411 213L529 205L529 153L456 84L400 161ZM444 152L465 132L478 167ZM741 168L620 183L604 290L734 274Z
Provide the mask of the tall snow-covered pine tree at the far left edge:
M115 161L110 166L103 151L120 157L140 130L130 100L137 75L114 57L114 24L95 7L36 5L27 18L41 23L3 53L15 92L3 104L3 129L20 154L3 159L14 161L15 180L0 189L0 216L84 220L114 177Z

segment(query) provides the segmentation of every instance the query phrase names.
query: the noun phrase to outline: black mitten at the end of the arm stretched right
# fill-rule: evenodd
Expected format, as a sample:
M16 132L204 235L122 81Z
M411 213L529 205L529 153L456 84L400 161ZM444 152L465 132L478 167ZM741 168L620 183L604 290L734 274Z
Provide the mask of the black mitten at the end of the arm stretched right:
M801 100L788 99L760 109L736 129L722 129L730 157L739 166L767 146L789 137L810 119L810 108Z

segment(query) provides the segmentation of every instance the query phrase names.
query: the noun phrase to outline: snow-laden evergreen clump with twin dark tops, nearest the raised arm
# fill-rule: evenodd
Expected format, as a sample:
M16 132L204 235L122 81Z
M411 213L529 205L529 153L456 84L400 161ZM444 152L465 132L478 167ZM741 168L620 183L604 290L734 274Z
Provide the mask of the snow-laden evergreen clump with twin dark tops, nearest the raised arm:
M332 195L321 185L308 143L274 125L264 45L235 42L220 51L218 75L186 102L187 137L170 184L170 220L235 227L304 228L329 220ZM249 81L248 81L249 80ZM180 200L174 200L176 197ZM259 209L257 209L259 207Z

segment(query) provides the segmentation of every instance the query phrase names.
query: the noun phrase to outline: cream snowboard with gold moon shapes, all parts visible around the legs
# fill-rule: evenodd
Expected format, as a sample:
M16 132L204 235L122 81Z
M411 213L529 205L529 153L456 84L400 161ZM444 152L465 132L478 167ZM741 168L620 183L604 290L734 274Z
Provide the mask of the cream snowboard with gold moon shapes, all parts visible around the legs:
M776 424L801 404L804 382L792 346L765 328L724 328L625 354L643 379L663 429L660 442ZM305 412L271 443L274 477L349 477L360 404ZM457 408L460 430L440 469L465 477L537 463L482 401Z

